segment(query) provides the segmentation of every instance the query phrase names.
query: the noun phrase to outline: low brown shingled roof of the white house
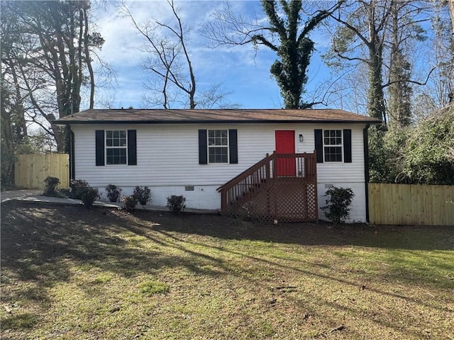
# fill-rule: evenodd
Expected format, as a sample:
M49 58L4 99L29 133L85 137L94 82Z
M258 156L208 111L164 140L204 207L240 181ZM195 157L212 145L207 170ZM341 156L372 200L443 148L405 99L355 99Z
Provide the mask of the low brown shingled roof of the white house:
M371 123L381 120L336 109L91 109L55 120L67 124L169 123Z

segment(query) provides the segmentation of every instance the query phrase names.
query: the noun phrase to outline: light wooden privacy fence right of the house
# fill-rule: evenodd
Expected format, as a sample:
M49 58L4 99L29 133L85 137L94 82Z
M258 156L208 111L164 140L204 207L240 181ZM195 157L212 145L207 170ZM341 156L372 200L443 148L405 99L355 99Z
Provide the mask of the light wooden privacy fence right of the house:
M369 220L376 225L454 226L454 186L369 183Z

